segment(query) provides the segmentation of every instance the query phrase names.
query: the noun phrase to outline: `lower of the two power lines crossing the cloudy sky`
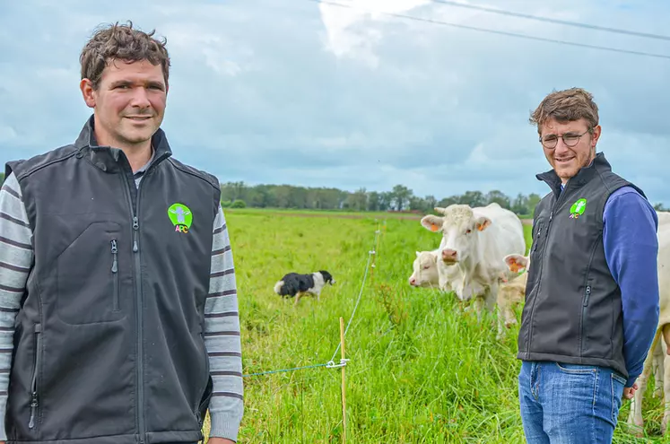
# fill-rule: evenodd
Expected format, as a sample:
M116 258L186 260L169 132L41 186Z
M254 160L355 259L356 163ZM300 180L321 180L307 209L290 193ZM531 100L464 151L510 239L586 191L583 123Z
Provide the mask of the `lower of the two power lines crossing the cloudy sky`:
M478 30L480 32L488 32L490 34L498 34L498 35L503 35L503 36L508 36L508 37L518 37L520 39L530 39L530 40L536 40L536 41L544 41L544 42L550 42L550 43L558 43L561 45L570 45L573 47L579 47L579 48L590 48L590 49L601 49L604 51L611 51L611 52L618 52L618 53L623 53L623 54L632 54L635 56L645 56L645 57L657 57L657 58L666 58L670 59L670 56L666 56L664 54L654 54L654 53L648 53L648 52L642 52L642 51L633 51L630 49L620 49L620 48L609 48L609 47L601 47L597 45L589 45L587 43L577 43L574 41L566 41L566 40L557 40L557 39L547 39L544 37L536 37L536 36L529 36L527 34L519 34L517 32L509 32L506 30L489 30L486 28L479 28L476 26L469 26L469 25L464 25L460 23L451 23L451 22L442 22L439 20L434 20L434 19L426 19L422 17L416 17L413 15L405 15L402 13L387 13L384 11L379 11L379 10L370 10L367 8L361 8L359 6L354 6L352 4L343 4L343 3L337 3L331 0L309 0L310 2L316 2L318 4L330 4L333 6L340 6L343 8L349 8L349 9L356 9L359 11L363 11L366 13L380 13L383 15L388 15L390 17L396 17L396 18L401 18L401 19L409 19L409 20L415 20L417 22L427 22L427 23L432 23L432 24L439 24L442 26L451 26L453 28L460 28L463 30Z

